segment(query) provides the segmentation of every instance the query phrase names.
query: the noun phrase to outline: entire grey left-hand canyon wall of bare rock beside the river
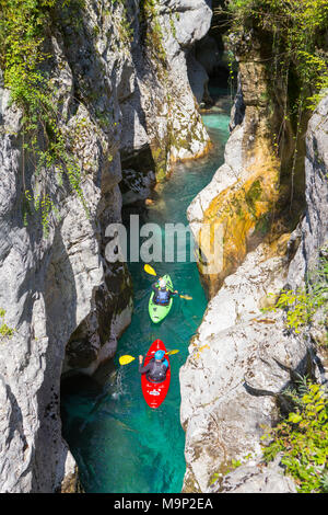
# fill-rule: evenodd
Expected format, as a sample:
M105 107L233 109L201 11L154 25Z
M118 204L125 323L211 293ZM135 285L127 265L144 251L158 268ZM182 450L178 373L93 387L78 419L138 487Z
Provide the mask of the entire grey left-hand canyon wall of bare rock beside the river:
M39 179L1 81L0 308L14 329L0 341L1 492L59 491L67 470L71 477L61 374L91 374L113 356L132 310L126 265L105 259L106 227L121 220L121 162L154 180L206 151L186 54L210 20L204 0L73 2L54 13L47 72L84 202L58 170L43 170L56 207L47 238L33 205L23 209ZM144 156L145 170L136 165Z

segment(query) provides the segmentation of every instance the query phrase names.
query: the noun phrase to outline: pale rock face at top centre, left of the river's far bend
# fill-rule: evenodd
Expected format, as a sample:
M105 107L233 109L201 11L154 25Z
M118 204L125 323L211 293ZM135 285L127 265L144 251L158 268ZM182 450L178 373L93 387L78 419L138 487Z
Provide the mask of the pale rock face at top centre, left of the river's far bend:
M130 170L162 180L172 164L203 154L209 137L188 79L192 45L208 32L212 11L204 0L140 2L139 37L130 47L119 90L121 158L129 188ZM125 170L129 173L125 173Z

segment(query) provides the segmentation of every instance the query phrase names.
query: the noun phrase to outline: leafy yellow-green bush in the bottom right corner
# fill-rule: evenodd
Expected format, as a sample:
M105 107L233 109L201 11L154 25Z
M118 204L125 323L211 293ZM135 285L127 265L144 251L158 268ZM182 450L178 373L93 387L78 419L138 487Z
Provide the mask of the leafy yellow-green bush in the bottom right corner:
M300 396L301 393L301 396ZM294 411L263 436L267 462L281 453L285 473L302 493L328 493L328 398L327 391L309 381L290 392Z

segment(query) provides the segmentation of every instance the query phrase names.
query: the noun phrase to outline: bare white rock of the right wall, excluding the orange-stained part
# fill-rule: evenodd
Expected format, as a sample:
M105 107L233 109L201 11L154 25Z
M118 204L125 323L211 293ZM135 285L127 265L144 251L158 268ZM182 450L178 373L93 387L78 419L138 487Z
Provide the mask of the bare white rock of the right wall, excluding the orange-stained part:
M180 369L184 492L295 492L293 482L283 478L279 460L268 468L260 466L260 436L263 426L274 424L277 408L286 408L283 390L296 373L327 381L327 370L314 346L315 323L311 337L303 337L286 331L282 312L263 314L261 309L273 305L285 285L302 285L327 247L327 106L328 98L308 124L307 205L301 229L276 240L265 238L226 276ZM190 207L196 230L212 194L235 181L234 171L243 173L243 126L234 128L225 164ZM232 459L246 464L224 477Z

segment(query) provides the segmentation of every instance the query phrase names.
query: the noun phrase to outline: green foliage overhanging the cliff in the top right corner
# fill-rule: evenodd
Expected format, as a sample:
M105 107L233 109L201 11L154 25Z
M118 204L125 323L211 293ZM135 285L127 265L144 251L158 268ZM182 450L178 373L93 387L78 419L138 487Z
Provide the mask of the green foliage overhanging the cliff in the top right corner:
M327 0L230 0L232 32L261 31L271 41L271 72L278 81L294 72L295 105L314 107L328 88Z

